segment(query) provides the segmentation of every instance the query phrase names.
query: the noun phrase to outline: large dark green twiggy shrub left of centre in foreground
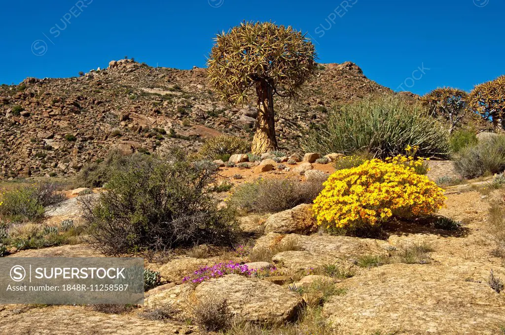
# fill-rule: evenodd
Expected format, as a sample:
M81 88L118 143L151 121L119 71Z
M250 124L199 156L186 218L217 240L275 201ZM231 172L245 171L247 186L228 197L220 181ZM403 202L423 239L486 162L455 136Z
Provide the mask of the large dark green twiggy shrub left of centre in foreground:
M83 199L90 243L113 255L232 243L233 213L211 194L216 164L140 157L114 171L98 200Z

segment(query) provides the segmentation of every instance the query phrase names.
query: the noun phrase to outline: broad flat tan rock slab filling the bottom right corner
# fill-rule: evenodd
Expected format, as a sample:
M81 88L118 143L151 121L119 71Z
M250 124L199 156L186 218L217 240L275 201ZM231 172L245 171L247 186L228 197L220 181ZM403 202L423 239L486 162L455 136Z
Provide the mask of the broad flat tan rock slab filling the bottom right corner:
M505 324L503 293L494 292L485 277L481 283L466 280L472 270L434 264L364 270L337 284L347 293L325 303L323 315L350 335L496 334Z

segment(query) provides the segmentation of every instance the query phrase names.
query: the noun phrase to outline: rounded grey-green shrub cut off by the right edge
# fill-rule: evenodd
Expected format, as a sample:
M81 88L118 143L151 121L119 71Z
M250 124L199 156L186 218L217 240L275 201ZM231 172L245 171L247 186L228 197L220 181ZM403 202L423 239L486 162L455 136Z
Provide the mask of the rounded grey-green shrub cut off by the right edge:
M460 151L456 171L465 178L501 173L505 170L505 136L500 135Z

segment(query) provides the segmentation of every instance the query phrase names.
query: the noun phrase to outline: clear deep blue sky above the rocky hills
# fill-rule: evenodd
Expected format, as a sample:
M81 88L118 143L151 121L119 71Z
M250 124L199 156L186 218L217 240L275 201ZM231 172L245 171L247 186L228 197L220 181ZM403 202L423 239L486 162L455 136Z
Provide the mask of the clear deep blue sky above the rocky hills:
M503 0L9 1L0 83L77 76L125 55L204 67L216 32L271 20L308 32L320 63L355 62L393 90L470 90L505 74L504 15Z

